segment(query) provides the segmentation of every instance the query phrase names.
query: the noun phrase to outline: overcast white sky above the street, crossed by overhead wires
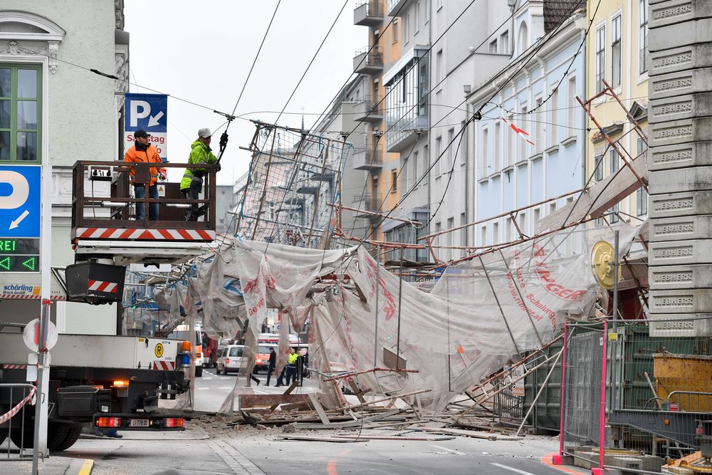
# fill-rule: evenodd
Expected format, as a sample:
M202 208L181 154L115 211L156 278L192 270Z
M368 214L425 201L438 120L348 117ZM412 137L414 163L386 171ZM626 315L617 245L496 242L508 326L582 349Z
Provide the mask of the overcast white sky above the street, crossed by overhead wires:
M367 44L367 28L353 24L356 1L348 1L279 120L281 125L299 126L304 110L309 127L349 77L353 53ZM276 4L276 0L125 0L131 82L230 113ZM236 115L276 119L342 5L343 0L282 0ZM131 85L130 92L150 91ZM211 110L169 98L168 160L187 162L198 129L216 130L223 123L224 118ZM246 172L250 156L239 146L249 145L254 130L246 120L230 126L219 184L232 184ZM213 140L215 149L220 132ZM182 174L174 173L171 181Z

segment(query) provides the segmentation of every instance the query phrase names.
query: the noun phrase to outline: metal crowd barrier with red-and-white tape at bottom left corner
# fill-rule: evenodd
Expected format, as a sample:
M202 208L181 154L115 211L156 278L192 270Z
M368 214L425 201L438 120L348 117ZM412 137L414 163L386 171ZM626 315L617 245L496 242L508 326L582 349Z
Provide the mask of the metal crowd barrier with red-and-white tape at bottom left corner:
M0 384L0 461L33 456L34 392L31 384Z

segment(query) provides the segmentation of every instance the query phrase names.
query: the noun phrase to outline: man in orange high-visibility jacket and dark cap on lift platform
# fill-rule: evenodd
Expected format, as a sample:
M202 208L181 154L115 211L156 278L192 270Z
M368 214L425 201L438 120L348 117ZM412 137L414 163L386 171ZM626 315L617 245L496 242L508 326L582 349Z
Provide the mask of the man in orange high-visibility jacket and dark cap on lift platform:
M145 130L137 130L134 132L134 146L126 151L124 156L125 162L137 162L137 163L162 163L160 155L158 155L158 150L156 147L149 143L149 134ZM131 183L134 186L134 193L137 199L143 199L146 197L146 184L136 182L136 170L131 167L129 170L131 175ZM158 199L158 185L156 182L158 179L166 179L166 169L161 167L151 167L150 168L150 182L148 187L148 197L151 199ZM136 221L143 221L145 218L144 204L136 203ZM150 203L148 205L148 219L150 221L156 221L158 219L158 203Z

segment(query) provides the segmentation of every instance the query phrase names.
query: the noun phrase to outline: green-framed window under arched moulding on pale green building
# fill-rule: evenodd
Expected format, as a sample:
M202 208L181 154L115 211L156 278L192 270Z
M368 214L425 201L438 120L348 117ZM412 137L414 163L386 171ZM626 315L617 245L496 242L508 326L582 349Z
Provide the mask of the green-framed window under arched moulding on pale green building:
M40 157L40 66L0 64L0 161L38 162Z

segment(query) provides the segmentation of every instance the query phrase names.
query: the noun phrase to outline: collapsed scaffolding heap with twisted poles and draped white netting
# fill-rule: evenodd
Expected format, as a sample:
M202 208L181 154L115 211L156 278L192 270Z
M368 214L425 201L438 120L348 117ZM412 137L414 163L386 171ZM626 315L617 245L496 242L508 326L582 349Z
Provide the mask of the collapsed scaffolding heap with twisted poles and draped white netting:
M533 236L518 229L518 238L508 243L457 247L439 246L437 238L501 216L429 234L419 239L422 244L347 236L339 221L340 210L348 209L340 204L339 185L350 145L255 123L250 172L235 213L236 238L224 239L214 254L194 263L184 278L184 296L168 287L169 298L163 296L185 315L197 318L200 312L208 333L234 335L248 328L240 377L221 412L232 413L236 399L246 402L253 395L249 369L268 308L288 322L281 325L277 373L286 363L288 329L308 323L310 370L321 391L308 402L311 409L323 406L333 418L365 404L401 400L420 415L464 407L458 424L466 424L460 419L473 409L491 414L492 406L484 404L544 369L541 392L560 360L560 351L550 349L563 323L609 314L607 295L590 271L590 249L597 241L612 241L606 220L612 204L646 184L645 155L631 157L620 145L623 137L614 141L599 127L609 146L627 155L624 166L602 182L590 180L584 189L562 195L577 199L543 219ZM634 130L642 133L637 123ZM502 216L516 223L518 212L559 198ZM374 214L390 219L389 213ZM600 226L590 227L595 220ZM644 283L625 256L644 263L645 226L615 228L622 235L624 279L633 282L643 308ZM357 245L333 249L348 241ZM404 248L427 249L433 262L407 262L408 271L402 259L389 266L378 262L383 249ZM436 254L441 248L461 249L465 256L442 261ZM357 402L343 394L347 384ZM277 407L271 404L268 412ZM522 412L520 429L528 416Z

